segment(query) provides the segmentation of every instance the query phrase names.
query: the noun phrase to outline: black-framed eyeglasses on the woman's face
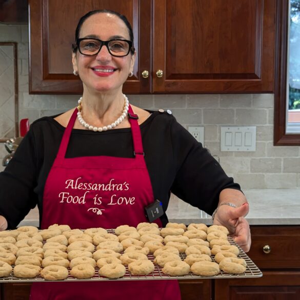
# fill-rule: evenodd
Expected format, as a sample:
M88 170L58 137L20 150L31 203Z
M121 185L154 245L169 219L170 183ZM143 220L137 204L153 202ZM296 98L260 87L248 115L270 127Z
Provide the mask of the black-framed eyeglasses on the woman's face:
M102 46L106 46L109 54L112 56L126 56L134 53L134 47L132 41L127 41L127 39L110 39L109 41L101 41L97 38L78 38L76 43L72 45L73 51L75 52L78 48L79 52L83 55L97 55Z

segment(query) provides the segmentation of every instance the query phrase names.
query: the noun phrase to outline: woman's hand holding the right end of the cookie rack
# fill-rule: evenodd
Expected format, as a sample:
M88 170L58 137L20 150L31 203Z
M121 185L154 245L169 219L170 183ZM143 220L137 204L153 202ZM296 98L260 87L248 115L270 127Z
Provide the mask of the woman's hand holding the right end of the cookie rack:
M242 206L236 208L222 205L218 207L213 221L214 225L225 226L235 243L245 252L248 252L251 246L250 227L245 219L248 212L248 203L244 203Z

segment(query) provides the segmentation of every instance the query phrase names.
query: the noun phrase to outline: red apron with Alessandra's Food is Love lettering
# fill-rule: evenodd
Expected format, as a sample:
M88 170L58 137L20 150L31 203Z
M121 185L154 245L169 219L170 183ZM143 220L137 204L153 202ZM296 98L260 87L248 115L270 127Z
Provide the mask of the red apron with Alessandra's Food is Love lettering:
M43 198L41 228L67 224L71 228L136 227L147 222L144 208L154 201L143 155L137 117L129 106L134 158L84 156L65 158L77 109L64 132L49 172ZM95 142L96 142L96 136ZM156 223L161 226L161 221ZM32 284L31 300L181 299L176 280L47 282Z

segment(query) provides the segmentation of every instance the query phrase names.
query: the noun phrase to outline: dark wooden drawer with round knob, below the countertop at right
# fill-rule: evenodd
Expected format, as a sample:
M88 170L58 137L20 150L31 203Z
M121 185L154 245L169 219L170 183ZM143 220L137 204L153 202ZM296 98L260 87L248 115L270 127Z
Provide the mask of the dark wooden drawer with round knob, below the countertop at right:
M300 226L251 226L251 237L247 254L258 268L300 268Z

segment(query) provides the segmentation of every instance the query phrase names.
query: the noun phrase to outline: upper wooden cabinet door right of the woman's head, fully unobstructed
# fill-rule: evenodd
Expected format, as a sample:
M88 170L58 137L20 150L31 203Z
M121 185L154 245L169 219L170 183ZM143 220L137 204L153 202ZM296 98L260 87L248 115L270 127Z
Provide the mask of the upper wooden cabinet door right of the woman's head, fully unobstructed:
M152 92L272 92L275 6L153 0Z

